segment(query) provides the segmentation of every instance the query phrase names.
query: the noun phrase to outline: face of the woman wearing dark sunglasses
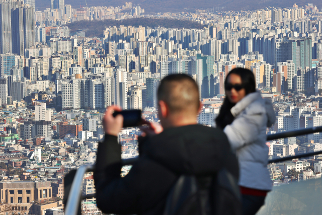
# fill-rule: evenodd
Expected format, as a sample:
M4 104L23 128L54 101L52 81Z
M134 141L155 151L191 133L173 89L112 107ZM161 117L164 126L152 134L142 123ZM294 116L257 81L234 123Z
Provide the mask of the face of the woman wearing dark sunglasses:
M241 78L236 74L231 74L228 76L225 91L228 100L233 104L236 104L246 96L246 90L243 87Z

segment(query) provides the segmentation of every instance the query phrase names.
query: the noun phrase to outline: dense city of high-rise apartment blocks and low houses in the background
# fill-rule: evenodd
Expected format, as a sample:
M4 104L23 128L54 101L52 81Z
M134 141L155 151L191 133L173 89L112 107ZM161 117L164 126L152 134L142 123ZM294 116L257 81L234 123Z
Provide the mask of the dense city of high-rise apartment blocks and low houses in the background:
M54 207L61 215L64 176L95 164L106 108L139 109L158 123L157 89L171 74L196 81L203 104L198 123L204 126L216 126L234 68L251 70L256 90L273 104L277 120L266 134L322 126L320 6L150 13L139 2L70 2L48 0L36 10L34 0L0 1L0 193L12 210L47 215ZM199 27L159 26L153 19ZM133 24L123 25L128 20ZM109 21L113 25L96 25ZM140 135L138 127L119 133L122 159L138 157ZM322 132L266 145L269 159L319 152ZM277 186L320 178L321 163L308 156L267 168ZM123 167L122 177L129 171ZM93 180L92 173L84 176L83 194L96 192ZM81 207L101 213L93 196Z

